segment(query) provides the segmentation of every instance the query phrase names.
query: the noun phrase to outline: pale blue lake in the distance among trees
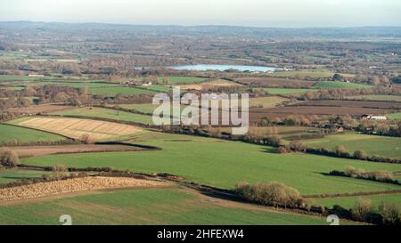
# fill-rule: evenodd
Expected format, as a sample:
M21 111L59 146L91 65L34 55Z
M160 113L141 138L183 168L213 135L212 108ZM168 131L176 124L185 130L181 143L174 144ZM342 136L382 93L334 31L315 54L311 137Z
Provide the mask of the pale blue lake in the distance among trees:
M250 71L250 72L274 72L277 68L273 67L262 67L262 66L244 66L244 65L214 65L214 64L198 64L198 65L183 65L183 66L175 66L172 69L176 70L190 70L190 71L207 71L207 70L217 70L217 71L225 71L228 69L237 69L241 72Z

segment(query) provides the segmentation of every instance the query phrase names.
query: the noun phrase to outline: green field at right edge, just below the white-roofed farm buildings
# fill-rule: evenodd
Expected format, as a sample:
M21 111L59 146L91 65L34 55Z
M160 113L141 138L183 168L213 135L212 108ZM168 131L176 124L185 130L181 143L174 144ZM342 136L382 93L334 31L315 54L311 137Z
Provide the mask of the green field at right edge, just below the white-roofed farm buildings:
M344 145L349 152L364 150L369 155L381 155L389 158L401 158L401 138L374 136L365 134L327 135L323 139L302 141L315 148L325 147L334 150L338 145Z

